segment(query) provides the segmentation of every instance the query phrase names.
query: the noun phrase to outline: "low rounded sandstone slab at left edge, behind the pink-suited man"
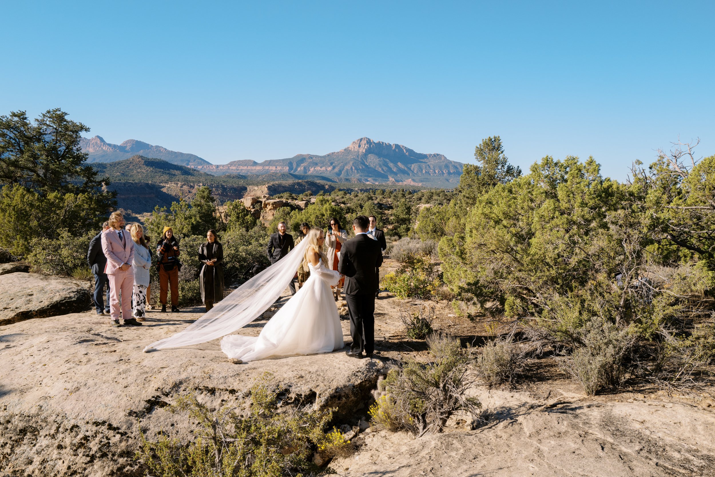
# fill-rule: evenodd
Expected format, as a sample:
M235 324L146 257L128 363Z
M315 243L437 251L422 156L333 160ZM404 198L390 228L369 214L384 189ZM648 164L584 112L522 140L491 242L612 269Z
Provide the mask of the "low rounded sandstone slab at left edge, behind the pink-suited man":
M63 277L14 272L0 275L0 325L87 310L87 285Z

